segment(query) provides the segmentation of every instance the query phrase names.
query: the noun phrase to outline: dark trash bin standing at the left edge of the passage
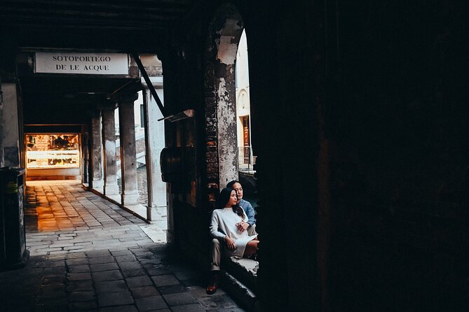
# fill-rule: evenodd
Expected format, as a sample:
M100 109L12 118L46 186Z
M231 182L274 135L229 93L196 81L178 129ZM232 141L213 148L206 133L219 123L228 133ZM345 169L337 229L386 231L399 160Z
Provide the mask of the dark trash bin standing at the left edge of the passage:
M26 264L25 212L23 194L25 169L0 168L0 271Z

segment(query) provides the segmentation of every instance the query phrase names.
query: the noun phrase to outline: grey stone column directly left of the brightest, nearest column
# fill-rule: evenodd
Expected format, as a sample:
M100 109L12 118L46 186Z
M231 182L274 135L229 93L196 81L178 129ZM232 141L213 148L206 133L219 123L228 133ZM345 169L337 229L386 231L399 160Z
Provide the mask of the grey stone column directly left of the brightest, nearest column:
M137 151L135 148L134 101L137 93L120 94L116 99L119 106L119 134L121 139L122 204L138 205Z

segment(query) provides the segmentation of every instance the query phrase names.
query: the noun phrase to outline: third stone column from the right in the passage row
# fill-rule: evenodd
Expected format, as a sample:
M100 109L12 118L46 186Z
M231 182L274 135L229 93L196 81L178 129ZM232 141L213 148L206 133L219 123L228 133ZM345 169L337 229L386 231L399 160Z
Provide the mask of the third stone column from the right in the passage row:
M103 106L102 113L102 141L104 146L104 195L120 201L117 185L116 166L116 123L114 120L115 104Z

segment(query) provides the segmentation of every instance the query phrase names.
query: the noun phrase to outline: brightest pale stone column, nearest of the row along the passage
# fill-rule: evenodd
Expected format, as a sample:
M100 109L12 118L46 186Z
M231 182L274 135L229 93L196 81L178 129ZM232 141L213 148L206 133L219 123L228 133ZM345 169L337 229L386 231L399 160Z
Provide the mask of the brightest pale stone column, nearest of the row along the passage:
M159 79L158 79L159 78ZM154 87L161 101L163 101L163 77L151 77L155 80ZM159 215L167 215L166 208L166 183L161 180L160 154L165 148L165 122L158 121L163 118L161 111L150 96L149 90L144 90L145 132L147 132L147 182L148 182L148 206L154 208ZM147 213L148 220L152 220L151 213Z

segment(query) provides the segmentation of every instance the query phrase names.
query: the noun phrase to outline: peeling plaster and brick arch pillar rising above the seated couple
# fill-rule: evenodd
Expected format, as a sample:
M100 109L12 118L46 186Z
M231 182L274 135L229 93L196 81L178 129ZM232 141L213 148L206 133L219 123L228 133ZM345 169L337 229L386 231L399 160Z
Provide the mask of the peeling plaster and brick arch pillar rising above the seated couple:
M215 17L206 50L205 131L209 200L238 179L236 128L236 53L243 21L231 6Z

